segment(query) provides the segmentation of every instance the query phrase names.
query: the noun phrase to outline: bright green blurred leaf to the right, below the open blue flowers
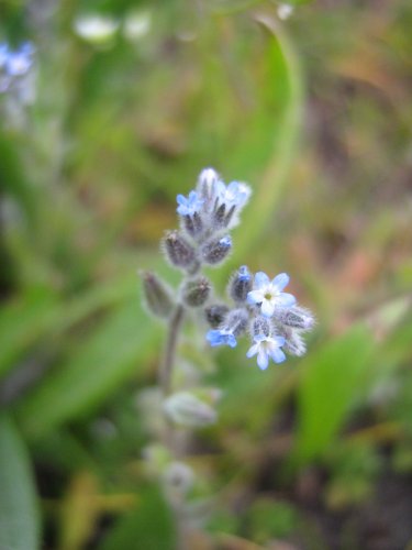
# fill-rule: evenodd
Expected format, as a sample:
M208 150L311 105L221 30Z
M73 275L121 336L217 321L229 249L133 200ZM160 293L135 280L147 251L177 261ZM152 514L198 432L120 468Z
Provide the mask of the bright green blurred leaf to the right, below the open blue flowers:
M370 331L358 323L304 365L298 391L298 461L322 453L342 427L366 378L372 348Z

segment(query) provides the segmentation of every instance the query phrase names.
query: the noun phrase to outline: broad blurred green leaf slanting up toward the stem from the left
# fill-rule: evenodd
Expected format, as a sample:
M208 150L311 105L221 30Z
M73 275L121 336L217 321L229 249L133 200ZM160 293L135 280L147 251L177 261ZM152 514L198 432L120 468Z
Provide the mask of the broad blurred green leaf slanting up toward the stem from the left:
M130 300L27 395L19 407L23 428L41 436L99 406L157 351L160 336L138 299Z

